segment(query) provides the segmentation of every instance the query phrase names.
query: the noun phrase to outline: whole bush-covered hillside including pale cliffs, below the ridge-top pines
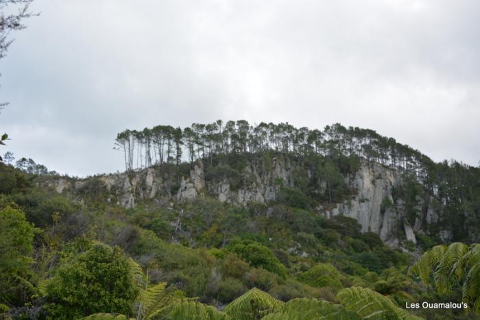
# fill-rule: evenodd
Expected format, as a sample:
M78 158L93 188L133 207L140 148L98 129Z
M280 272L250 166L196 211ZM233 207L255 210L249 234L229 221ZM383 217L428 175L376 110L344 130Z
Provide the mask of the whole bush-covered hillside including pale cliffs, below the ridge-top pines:
M432 162L429 185L415 170L355 153L232 152L85 180L29 169L28 161L0 164L3 315L475 317L478 246L446 249L437 231L477 241L479 169ZM349 204L407 221L389 229L397 245L385 245L371 223L365 229ZM406 309L421 301L468 308Z

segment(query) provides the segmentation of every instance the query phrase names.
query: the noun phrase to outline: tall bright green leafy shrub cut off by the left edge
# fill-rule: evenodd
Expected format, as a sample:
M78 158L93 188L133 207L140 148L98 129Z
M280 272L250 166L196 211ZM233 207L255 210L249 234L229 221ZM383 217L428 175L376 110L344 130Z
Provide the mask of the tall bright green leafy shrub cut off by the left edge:
M35 228L19 209L0 210L0 303L14 304L22 295L32 293L29 267Z

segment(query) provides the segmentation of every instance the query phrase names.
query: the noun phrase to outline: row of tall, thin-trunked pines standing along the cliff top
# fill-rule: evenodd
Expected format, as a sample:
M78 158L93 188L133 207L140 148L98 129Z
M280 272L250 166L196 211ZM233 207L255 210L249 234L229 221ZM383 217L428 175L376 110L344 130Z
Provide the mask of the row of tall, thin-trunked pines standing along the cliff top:
M125 169L150 167L152 164L193 162L221 153L259 153L275 151L307 156L351 156L385 164L400 171L413 171L422 177L425 166L433 163L420 151L397 143L374 130L344 127L339 123L324 130L294 127L289 123L215 121L193 123L184 129L157 125L144 130L124 130L117 134L116 149L123 151ZM187 154L186 158L182 158Z

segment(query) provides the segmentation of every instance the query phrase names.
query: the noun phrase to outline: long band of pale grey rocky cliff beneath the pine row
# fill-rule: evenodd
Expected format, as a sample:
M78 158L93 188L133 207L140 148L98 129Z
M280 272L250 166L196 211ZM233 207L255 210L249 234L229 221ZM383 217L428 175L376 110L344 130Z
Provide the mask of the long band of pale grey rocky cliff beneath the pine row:
M302 160L287 156L251 157L239 170L225 164L208 164L197 160L176 177L166 166L98 175L85 180L59 179L49 182L58 193L88 197L86 190L95 188L95 195L105 195L108 202L123 208L134 208L139 201L155 201L168 206L172 201L193 201L206 195L237 206L251 202L274 204L283 187L296 188L299 181L317 180L314 193L326 193L326 182L315 174L315 168ZM418 199L417 214L407 219L404 199L395 197L395 188L403 184L398 171L361 160L355 173L343 176L351 193L336 203L317 201L310 210L333 217L343 214L356 219L362 232L374 232L393 247L401 241L417 242L416 234L438 232L440 240L451 241L451 230L436 225L439 212L424 199ZM309 183L310 183L309 182ZM435 227L431 227L435 225Z

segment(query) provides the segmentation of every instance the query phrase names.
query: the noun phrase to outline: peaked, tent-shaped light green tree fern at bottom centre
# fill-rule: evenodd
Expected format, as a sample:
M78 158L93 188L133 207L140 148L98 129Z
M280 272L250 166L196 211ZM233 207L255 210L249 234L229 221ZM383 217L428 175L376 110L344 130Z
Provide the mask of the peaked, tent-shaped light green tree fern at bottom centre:
M281 310L284 302L268 293L252 288L226 306L225 312L233 319L256 320L270 312Z

